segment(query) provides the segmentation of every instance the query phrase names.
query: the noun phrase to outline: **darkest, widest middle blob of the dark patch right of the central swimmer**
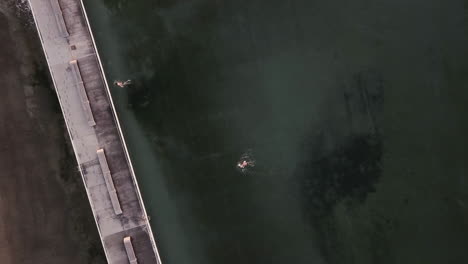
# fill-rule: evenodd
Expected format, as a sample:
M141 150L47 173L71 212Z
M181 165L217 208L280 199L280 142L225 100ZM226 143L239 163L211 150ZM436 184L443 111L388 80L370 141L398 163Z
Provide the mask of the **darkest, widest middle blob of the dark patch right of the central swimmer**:
M313 218L324 217L337 203L361 203L374 192L382 172L381 144L373 135L350 136L332 153L299 164L296 173L302 178L307 213ZM317 155L317 149L320 147L312 148L309 157Z

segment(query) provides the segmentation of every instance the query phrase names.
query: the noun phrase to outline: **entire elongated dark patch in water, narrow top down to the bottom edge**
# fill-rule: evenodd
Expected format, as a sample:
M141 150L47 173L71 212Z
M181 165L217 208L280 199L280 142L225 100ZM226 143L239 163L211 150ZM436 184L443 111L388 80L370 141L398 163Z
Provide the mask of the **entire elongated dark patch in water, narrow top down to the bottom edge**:
M334 228L335 208L362 205L382 176L383 131L378 121L382 120L383 91L384 82L377 72L355 74L343 88L348 125L341 129L346 132L328 145L326 134L333 131L309 134L303 160L294 171L304 214L317 230L321 252L329 263L354 263L341 253L344 245ZM373 261L383 263L386 257Z

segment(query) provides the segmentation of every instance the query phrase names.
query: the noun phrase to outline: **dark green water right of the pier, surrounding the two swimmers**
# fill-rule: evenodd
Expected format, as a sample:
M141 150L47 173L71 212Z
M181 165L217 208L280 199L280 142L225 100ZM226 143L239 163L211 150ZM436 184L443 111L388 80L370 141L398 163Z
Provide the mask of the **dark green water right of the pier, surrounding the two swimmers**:
M164 263L468 263L467 1L85 4Z

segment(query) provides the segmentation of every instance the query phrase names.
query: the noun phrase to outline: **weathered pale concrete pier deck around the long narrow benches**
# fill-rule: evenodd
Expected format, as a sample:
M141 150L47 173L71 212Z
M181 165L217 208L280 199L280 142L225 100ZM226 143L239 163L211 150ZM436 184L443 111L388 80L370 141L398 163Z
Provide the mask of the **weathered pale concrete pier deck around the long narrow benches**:
M69 33L66 38L63 37L64 30L57 24L60 19L54 12L55 2L57 0L30 0L107 259L109 263L129 262L123 244L123 238L129 236L138 263L159 263L81 2L57 2ZM71 68L74 64L70 64L75 60L78 66L75 72L78 70L81 75L95 125L89 123L89 111L83 108L86 96L80 95L81 80L77 81ZM96 153L98 149L105 152L121 214L119 210L115 211L117 199L114 199L114 206L112 204L113 193L106 186Z

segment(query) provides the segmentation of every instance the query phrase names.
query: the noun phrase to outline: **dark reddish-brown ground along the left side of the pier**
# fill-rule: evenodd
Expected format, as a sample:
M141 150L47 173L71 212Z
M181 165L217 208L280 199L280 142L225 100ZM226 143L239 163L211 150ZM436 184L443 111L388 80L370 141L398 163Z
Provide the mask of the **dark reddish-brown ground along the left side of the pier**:
M0 1L0 263L105 263L37 33Z

